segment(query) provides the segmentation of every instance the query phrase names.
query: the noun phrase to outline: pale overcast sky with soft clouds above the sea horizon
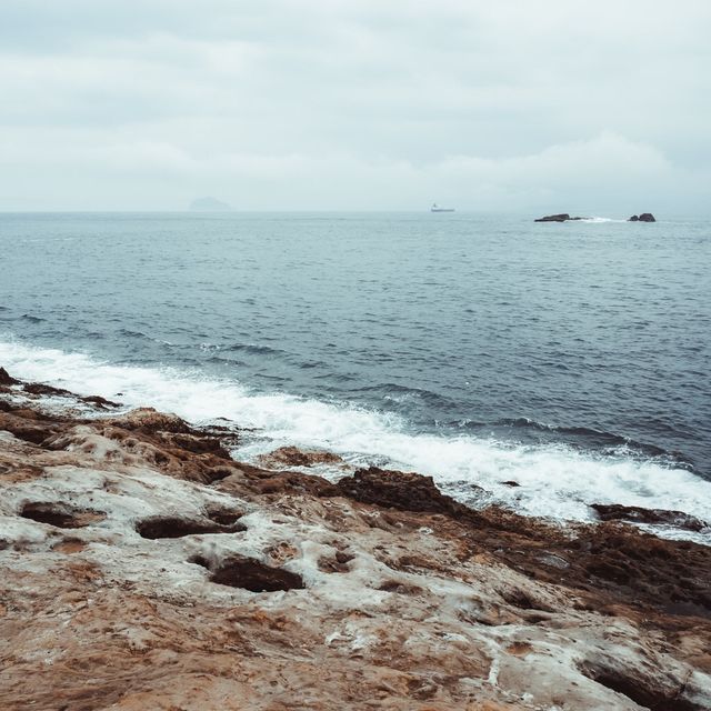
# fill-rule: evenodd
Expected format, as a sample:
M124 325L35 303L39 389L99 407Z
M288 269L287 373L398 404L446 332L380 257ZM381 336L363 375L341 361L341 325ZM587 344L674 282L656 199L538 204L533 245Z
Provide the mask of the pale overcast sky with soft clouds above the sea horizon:
M711 212L709 0L0 0L0 209Z

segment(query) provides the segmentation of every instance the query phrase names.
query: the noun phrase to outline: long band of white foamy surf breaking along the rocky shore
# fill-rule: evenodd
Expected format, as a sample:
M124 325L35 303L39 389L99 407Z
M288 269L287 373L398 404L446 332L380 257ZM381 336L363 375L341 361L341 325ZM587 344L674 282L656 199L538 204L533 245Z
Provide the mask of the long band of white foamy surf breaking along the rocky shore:
M127 407L151 405L197 423L226 418L257 429L260 435L237 452L241 458L282 444L324 448L356 464L431 474L464 501L478 484L491 492L491 501L560 520L593 520L591 503L674 509L711 518L711 482L624 452L601 455L561 443L522 445L457 429L421 433L392 413L260 393L234 380L207 378L197 369L118 365L12 340L0 341L0 364L16 377L118 399ZM520 485L512 488L508 481ZM711 533L707 539L711 543Z

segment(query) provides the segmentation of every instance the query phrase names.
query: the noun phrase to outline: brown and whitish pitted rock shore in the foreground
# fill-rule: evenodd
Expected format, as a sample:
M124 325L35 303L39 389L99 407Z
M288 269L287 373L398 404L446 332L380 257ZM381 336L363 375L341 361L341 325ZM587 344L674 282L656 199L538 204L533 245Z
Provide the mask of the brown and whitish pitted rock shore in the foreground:
M711 709L711 548L239 438L0 369L1 709Z

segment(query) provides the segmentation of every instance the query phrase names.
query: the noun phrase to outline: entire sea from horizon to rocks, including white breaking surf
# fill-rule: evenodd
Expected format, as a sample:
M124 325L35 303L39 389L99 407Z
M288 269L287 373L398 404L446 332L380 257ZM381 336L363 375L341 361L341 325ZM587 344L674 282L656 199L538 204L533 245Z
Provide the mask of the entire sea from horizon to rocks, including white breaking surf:
M0 266L0 365L233 420L239 455L711 519L711 222L6 213Z

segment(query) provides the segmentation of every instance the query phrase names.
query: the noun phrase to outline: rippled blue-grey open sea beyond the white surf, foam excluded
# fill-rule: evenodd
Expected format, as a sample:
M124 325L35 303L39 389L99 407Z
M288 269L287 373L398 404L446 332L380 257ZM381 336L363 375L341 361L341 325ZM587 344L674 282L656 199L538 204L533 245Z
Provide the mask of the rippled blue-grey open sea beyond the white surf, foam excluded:
M2 341L711 472L709 222L2 214L0 264Z

